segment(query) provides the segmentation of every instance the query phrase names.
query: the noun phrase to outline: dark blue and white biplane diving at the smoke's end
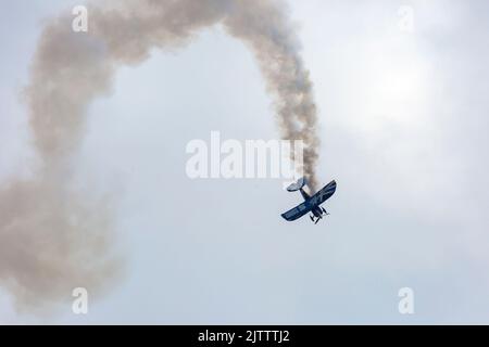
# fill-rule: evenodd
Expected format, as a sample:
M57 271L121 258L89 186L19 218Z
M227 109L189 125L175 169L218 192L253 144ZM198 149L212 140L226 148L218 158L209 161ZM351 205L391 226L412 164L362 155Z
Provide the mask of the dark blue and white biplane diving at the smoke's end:
M324 207L321 207L321 204L323 204L325 201L327 201L329 197L335 194L336 191L336 181L333 180L328 184L326 184L322 190L319 190L314 195L309 195L304 190L304 185L306 184L305 178L299 179L296 183L290 184L287 188L287 191L289 192L297 192L300 191L302 194L302 197L304 198L304 202L292 209L286 211L281 215L284 219L288 221L292 221L296 219L301 218L308 213L312 213L310 215L311 220L314 222L314 224L317 224L319 219L323 219L323 214L329 215Z

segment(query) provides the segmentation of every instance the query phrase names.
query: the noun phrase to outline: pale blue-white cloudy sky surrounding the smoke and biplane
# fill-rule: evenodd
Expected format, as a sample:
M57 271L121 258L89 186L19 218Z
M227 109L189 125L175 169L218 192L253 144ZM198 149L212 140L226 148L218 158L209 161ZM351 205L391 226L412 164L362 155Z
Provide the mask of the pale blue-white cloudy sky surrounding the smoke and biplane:
M28 172L20 91L41 21L68 4L0 3L0 180ZM399 29L400 5L414 9L413 33ZM120 192L124 279L83 317L70 303L50 317L16 313L0 292L0 322L488 322L489 4L290 7L319 108L319 179L338 182L331 215L284 221L300 196L278 180L185 176L187 142L212 130L277 137L251 53L211 28L122 68L90 107L78 180ZM398 312L403 286L412 316Z

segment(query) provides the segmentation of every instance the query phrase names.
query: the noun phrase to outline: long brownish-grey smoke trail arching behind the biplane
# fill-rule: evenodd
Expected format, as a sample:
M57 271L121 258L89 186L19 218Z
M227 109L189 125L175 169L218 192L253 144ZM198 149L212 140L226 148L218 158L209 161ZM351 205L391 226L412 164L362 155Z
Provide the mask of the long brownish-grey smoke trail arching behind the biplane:
M253 51L274 97L284 139L306 145L304 172L316 185L316 111L309 73L281 4L268 0L125 0L89 7L89 31L62 15L43 30L26 89L37 177L0 190L0 283L18 304L41 306L75 286L104 287L120 270L111 214L103 202L71 189L71 163L84 134L86 108L110 92L120 65L153 48L183 47L221 24Z

